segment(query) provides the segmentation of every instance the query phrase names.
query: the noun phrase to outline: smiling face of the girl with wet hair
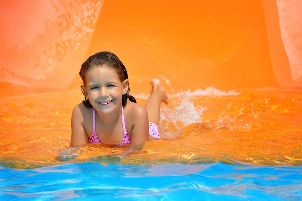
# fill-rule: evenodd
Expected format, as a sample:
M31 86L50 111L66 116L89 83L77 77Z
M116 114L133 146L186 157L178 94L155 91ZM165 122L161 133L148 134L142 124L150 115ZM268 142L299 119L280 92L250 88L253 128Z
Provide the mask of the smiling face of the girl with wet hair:
M122 95L128 91L128 79L121 82L115 70L102 66L86 72L84 94L91 105L102 113L110 113L122 105Z

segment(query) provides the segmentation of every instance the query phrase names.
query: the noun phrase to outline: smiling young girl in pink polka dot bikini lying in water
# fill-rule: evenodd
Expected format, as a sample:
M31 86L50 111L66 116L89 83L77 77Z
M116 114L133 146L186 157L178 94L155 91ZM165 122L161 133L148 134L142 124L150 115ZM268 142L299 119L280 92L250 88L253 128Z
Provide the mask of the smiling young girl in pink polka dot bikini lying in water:
M99 52L90 56L79 74L85 100L72 112L71 146L141 145L149 138L174 138L157 128L161 103L168 104L159 79L152 79L151 94L143 107L129 95L127 70L113 53Z

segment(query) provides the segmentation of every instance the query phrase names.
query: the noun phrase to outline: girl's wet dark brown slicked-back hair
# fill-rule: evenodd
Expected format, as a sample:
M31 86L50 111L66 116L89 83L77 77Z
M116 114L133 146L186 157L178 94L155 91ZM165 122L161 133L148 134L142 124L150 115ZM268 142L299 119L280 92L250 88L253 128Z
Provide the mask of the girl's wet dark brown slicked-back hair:
M128 73L124 64L119 60L119 58L111 52L98 52L90 56L82 65L79 72L80 77L82 78L84 86L86 86L86 72L90 69L101 67L105 65L106 67L112 68L115 70L121 82L128 79ZM127 100L137 103L135 98L132 95L129 95L130 86L128 85L128 91L123 95L122 104L126 105ZM83 91L82 91L83 93ZM84 93L83 93L84 95ZM86 99L84 95L84 100L82 102L86 107L92 107L89 100Z

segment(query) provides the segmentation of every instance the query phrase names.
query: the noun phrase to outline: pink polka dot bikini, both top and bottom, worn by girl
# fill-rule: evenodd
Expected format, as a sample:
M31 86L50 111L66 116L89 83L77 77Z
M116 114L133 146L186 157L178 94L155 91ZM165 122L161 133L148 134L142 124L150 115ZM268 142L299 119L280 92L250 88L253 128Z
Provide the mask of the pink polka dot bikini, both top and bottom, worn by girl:
M129 134L126 131L123 107L122 107L122 124L123 124L123 130L124 130L124 138L123 138L123 142L118 144L120 146L131 143L131 137L129 136ZM100 140L98 139L98 136L96 133L96 109L95 108L93 109L93 115L92 115L92 128L93 128L93 131L89 138L89 143L102 144L100 142ZM149 134L151 136L153 136L154 138L160 138L159 130L158 130L157 126L152 122L149 122Z

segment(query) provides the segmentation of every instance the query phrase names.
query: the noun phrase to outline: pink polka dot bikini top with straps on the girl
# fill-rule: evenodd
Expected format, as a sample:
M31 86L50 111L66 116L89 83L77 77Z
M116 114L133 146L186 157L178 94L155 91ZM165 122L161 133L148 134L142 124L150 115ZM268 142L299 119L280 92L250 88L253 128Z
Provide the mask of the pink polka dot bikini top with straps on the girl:
M122 123L123 123L123 130L124 130L124 138L123 138L123 142L118 144L118 145L121 145L121 146L131 143L131 137L129 136L129 134L126 131L123 107L122 107ZM92 131L92 134L89 138L89 143L91 143L91 144L102 144L100 142L100 140L98 139L98 136L96 134L96 109L95 108L93 109L93 114L92 114L92 128L93 128L93 131Z

